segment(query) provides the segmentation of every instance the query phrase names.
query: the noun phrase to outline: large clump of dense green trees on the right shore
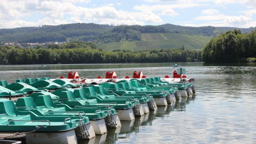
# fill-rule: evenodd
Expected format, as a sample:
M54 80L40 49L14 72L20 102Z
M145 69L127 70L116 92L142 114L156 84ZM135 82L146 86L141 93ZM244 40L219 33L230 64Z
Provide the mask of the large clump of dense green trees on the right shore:
M255 30L246 34L237 29L224 32L203 49L205 62L238 62L252 57L256 57Z

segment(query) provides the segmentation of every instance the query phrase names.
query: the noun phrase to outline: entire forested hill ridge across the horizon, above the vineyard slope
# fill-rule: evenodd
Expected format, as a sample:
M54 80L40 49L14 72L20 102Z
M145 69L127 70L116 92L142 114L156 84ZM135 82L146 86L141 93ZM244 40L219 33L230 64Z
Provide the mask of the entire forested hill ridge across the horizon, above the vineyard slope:
M122 41L142 41L142 33L182 33L189 35L216 36L233 30L228 27L183 27L171 24L160 26L109 26L98 24L66 24L59 26L25 27L16 29L0 29L0 42L63 42L91 41L109 43ZM255 28L240 29L242 33L251 32Z

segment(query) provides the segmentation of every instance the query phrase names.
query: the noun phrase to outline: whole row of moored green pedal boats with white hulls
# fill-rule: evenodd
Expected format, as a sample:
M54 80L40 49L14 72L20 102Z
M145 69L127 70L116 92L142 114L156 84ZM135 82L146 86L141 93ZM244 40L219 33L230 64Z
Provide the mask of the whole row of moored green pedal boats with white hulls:
M0 133L25 132L29 144L73 143L103 135L107 127L121 127L120 120L134 120L196 92L193 82L170 83L160 77L115 79L100 85L71 82L0 81Z

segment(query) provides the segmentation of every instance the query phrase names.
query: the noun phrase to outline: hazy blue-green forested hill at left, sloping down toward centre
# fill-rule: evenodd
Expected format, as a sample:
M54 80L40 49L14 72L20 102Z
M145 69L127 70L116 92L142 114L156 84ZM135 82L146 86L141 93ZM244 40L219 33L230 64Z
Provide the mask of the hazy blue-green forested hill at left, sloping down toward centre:
M42 43L69 40L90 41L110 29L113 29L113 26L79 23L59 26L0 29L0 42Z

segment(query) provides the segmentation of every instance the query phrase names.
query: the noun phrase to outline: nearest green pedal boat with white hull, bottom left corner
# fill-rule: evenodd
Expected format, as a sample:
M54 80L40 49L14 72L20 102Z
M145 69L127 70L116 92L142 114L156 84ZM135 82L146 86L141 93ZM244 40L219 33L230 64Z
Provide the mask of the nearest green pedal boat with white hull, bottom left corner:
M95 137L85 115L39 116L31 111L18 111L14 102L6 99L0 99L0 132L27 132L29 144L73 144L76 135L82 139Z

